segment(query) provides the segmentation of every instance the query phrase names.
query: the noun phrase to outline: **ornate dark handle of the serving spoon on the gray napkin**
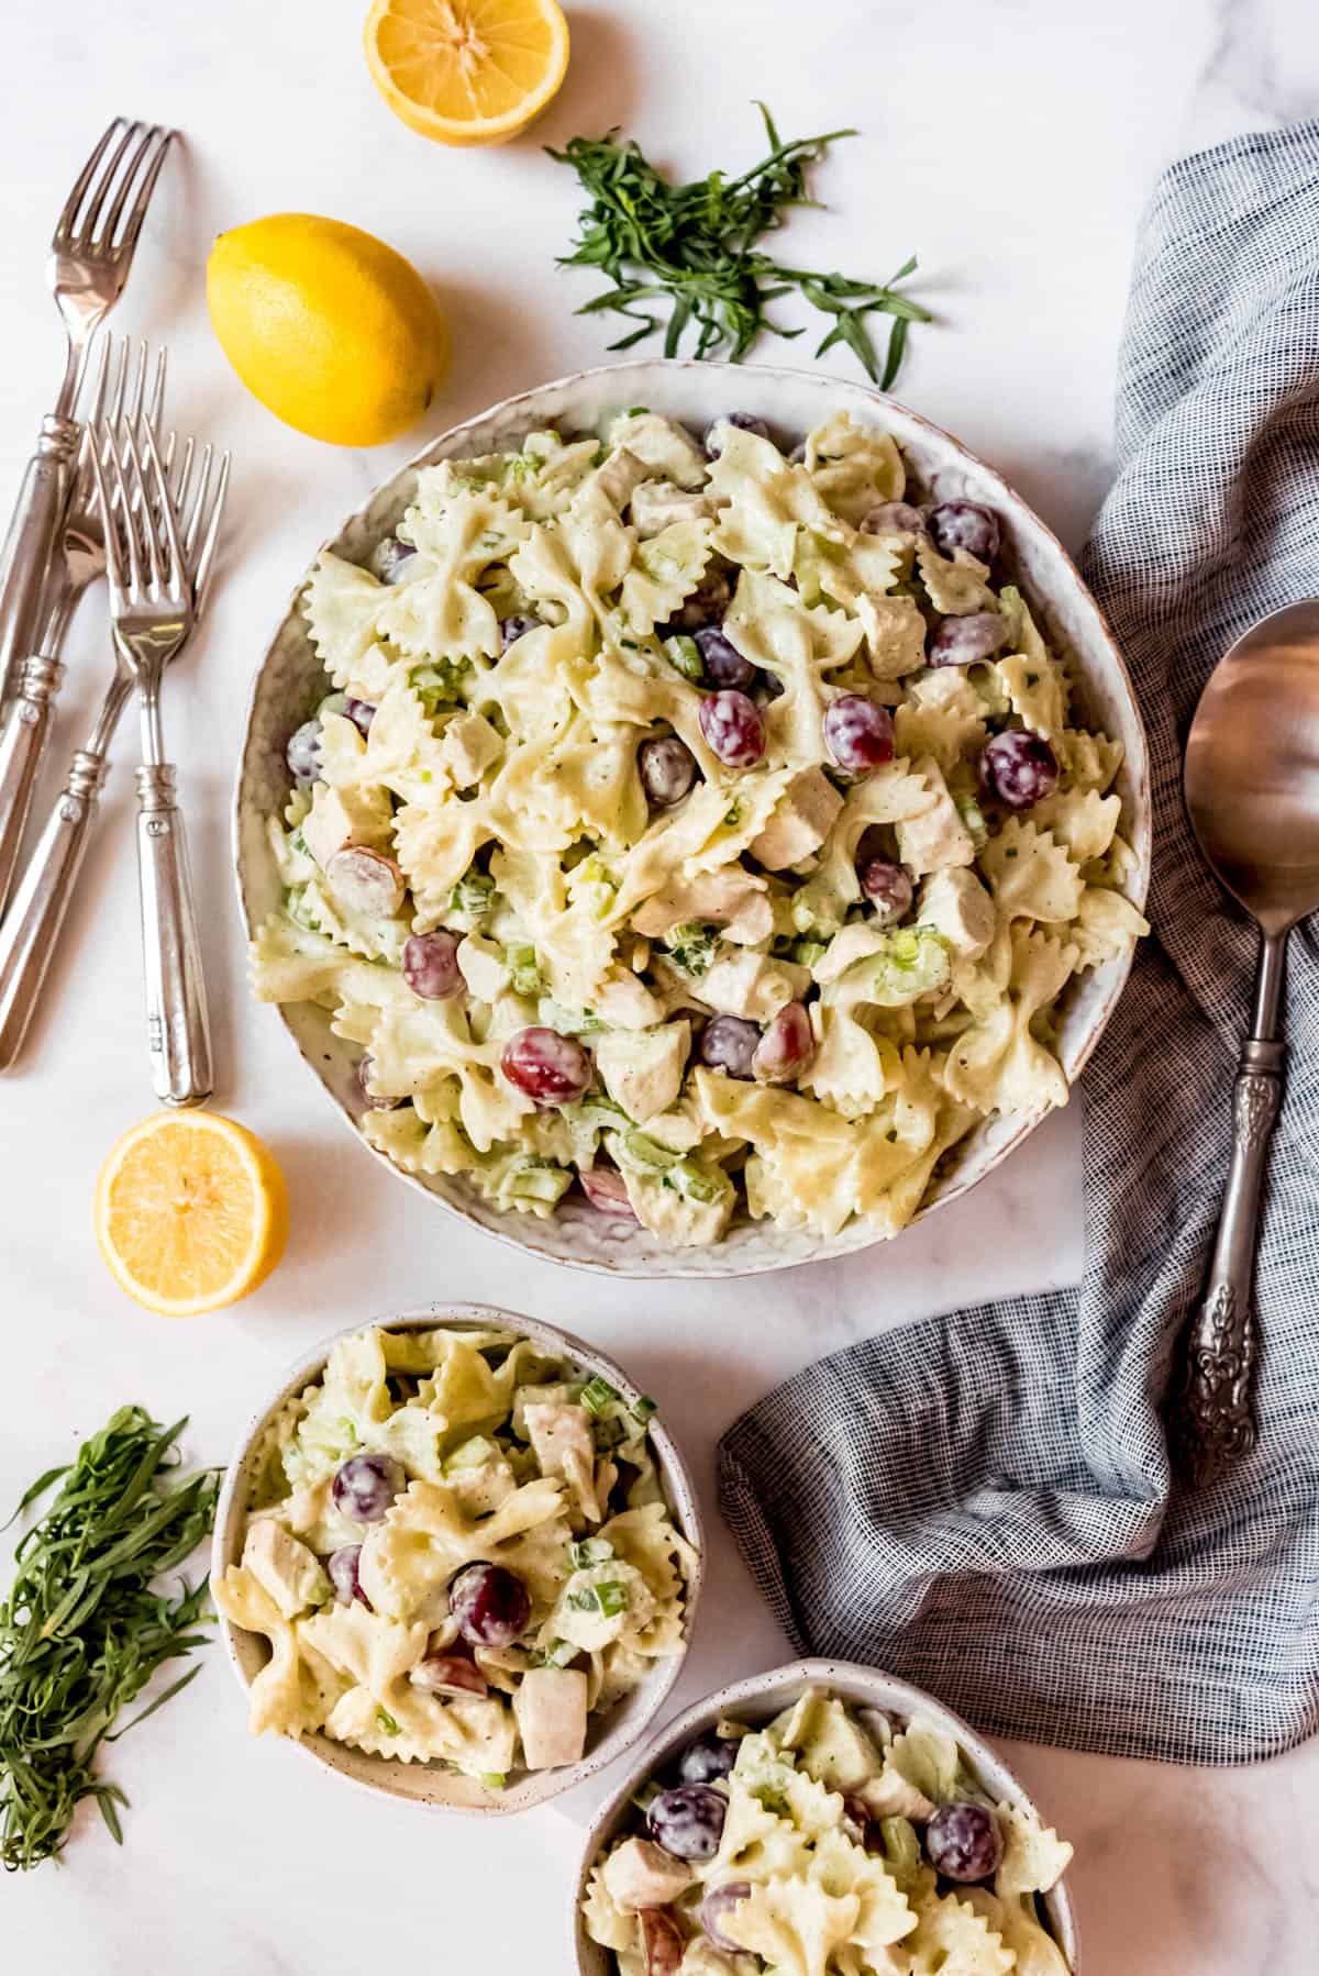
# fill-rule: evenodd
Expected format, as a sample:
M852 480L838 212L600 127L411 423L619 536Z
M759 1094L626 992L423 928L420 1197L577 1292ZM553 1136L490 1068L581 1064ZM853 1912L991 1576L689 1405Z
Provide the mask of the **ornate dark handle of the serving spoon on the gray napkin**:
M1204 1296L1187 1328L1173 1441L1196 1482L1210 1482L1254 1446L1250 1387L1256 1359L1252 1280L1270 1140L1281 1105L1283 1043L1242 1047L1232 1097L1232 1164Z

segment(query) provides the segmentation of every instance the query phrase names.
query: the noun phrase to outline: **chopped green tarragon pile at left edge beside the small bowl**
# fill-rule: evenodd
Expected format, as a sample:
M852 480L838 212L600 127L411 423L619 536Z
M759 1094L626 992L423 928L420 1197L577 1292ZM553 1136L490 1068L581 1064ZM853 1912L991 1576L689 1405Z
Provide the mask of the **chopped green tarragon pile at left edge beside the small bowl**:
M119 1806L129 1800L97 1774L97 1751L202 1672L192 1668L113 1731L158 1668L206 1642L206 1579L154 1589L216 1516L214 1470L168 1480L184 1425L158 1427L140 1407L121 1407L77 1460L38 1476L14 1512L61 1484L20 1539L0 1605L0 1863L10 1871L55 1857L83 1798L95 1798L123 1842Z

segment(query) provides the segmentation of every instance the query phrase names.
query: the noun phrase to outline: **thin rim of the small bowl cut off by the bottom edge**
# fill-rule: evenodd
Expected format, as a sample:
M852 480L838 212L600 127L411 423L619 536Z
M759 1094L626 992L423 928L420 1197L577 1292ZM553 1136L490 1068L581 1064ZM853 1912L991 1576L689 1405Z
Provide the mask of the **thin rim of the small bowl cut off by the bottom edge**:
M585 1942L589 1940L581 1923L581 1901L591 1877L599 1850L607 1838L613 1836L613 1826L631 1802L633 1790L645 1780L647 1772L657 1769L668 1755L672 1755L674 1745L686 1743L694 1733L710 1727L722 1715L749 1715L755 1711L763 1697L779 1695L783 1689L805 1689L805 1688L831 1688L838 1680L854 1682L860 1688L874 1691L874 1707L894 1709L908 1719L920 1713L933 1715L947 1731L957 1739L965 1755L971 1757L973 1769L1007 1800L1018 1804L1038 1818L1038 1808L1018 1780L1014 1770L1005 1763L1005 1759L971 1727L965 1717L949 1709L945 1701L935 1699L925 1688L914 1688L912 1682L900 1680L896 1674L886 1674L882 1668L866 1668L856 1660L831 1660L825 1656L805 1656L801 1660L783 1662L779 1668L769 1668L763 1674L749 1674L740 1682L728 1682L724 1688L712 1689L690 1707L682 1709L678 1715L670 1717L662 1729L659 1729L629 1761L625 1778L619 1782L617 1790L599 1806L591 1826L581 1844L581 1863L577 1867L577 1881L572 1893L572 1909L568 1913L568 1929L573 1944L573 1968L577 1976L597 1976L597 1966L587 1960ZM771 1713L777 1715L785 1701L775 1701L773 1711L761 1709L763 1719ZM852 1703L858 1705L858 1703ZM1068 1891L1066 1873L1050 1889L1050 1893L1040 1895L1044 1907L1048 1909L1050 1927L1062 1956L1068 1964L1068 1976L1080 1976L1080 1927L1076 1921L1076 1907ZM599 1944L591 1942L591 1948ZM609 1950L601 1950L609 1954Z

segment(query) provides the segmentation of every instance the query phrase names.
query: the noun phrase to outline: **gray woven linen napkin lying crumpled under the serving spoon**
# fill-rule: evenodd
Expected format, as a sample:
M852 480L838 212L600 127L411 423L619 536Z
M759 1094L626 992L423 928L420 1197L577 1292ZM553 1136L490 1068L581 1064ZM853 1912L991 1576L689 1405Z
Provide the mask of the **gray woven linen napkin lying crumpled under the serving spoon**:
M1001 1735L1244 1763L1319 1727L1319 937L1291 937L1260 1441L1196 1494L1159 1409L1208 1263L1256 943L1179 790L1214 660L1319 595L1319 123L1159 184L1117 454L1088 577L1149 723L1155 933L1084 1079L1084 1286L811 1365L724 1437L720 1488L803 1650L876 1662Z

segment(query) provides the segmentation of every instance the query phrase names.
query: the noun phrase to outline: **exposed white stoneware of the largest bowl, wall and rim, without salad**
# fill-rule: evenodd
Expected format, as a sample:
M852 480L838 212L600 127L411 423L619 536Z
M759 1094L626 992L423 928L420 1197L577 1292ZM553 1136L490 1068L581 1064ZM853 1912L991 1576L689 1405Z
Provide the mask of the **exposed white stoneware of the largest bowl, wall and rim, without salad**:
M1003 522L1007 561L1040 617L1046 634L1058 650L1070 654L1080 711L1096 727L1117 737L1127 753L1117 779L1123 798L1123 834L1135 850L1131 893L1145 899L1149 881L1149 765L1145 729L1121 656L1107 632L1099 609L1082 583L1076 565L1062 543L1026 508L1018 494L993 468L973 458L955 439L935 425L906 411L880 391L842 383L821 371L791 371L747 366L730 370L724 364L645 362L611 364L601 370L562 377L510 397L479 419L455 425L403 466L392 480L348 516L340 532L326 543L350 561L364 561L370 549L401 518L411 500L419 466L439 458L461 458L473 453L492 453L520 447L526 433L556 427L562 433L597 429L599 423L629 405L649 405L653 411L688 423L700 431L722 411L751 411L769 421L783 443L795 443L813 425L835 411L850 411L864 423L882 425L902 445L908 460L939 500L979 500L991 506ZM307 636L301 611L301 585L257 672L247 713L247 739L237 777L235 800L235 862L237 885L247 931L255 931L281 903L279 873L265 834L265 820L277 814L289 794L285 741L314 709L326 690L316 654ZM1074 978L1062 998L1062 1028L1058 1055L1068 1079L1076 1079L1090 1051L1099 1041L1117 996L1129 972L1129 960L1113 960ZM364 1150L390 1166L360 1136L364 1111L356 1079L358 1051L330 1033L324 1010L307 1002L281 1006L283 1024L305 1065L324 1087L340 1118L360 1138ZM967 1188L1003 1160L1034 1130L1042 1112L1030 1116L987 1118L949 1154L937 1172L922 1207L929 1213L957 1199ZM769 1221L751 1221L746 1213L728 1237L714 1249L672 1249L649 1229L619 1215L601 1215L581 1195L570 1195L560 1211L538 1221L534 1215L500 1213L463 1180L401 1174L465 1221L546 1255L556 1263L579 1269L609 1271L619 1276L749 1276L789 1263L811 1263L829 1255L848 1255L874 1243L866 1221L852 1221L835 1237L811 1235L805 1229L779 1229Z

